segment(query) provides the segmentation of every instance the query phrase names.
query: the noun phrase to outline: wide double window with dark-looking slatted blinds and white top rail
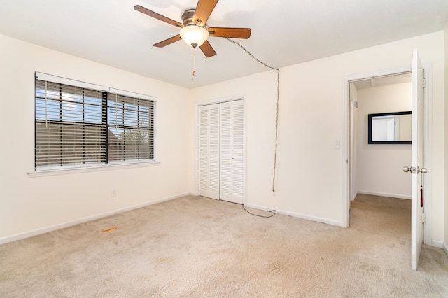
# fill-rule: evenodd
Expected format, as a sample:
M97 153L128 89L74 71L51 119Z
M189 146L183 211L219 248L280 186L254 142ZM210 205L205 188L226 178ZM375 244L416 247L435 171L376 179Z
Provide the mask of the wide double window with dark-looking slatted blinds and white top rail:
M41 73L35 84L36 170L154 161L153 97Z

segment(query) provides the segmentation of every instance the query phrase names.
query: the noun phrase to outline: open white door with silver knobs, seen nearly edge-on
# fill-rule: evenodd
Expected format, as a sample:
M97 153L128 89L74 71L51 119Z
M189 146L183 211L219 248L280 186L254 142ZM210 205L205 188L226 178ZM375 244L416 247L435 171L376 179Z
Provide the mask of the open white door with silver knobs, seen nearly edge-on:
M412 228L411 228L411 267L416 270L419 264L421 244L423 243L423 194L421 194L421 175L423 168L423 68L416 49L412 53Z

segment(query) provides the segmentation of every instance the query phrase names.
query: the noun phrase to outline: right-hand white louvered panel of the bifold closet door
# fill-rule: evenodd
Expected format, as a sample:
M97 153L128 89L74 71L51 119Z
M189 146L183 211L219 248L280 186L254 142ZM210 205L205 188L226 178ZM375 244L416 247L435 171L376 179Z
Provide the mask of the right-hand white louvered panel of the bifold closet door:
M221 104L221 199L244 204L244 102Z

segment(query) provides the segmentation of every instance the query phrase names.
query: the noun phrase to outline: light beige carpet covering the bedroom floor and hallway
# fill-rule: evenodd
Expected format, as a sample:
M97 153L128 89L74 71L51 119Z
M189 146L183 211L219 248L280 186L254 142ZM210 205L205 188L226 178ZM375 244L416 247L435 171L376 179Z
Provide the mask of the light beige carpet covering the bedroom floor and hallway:
M0 246L0 297L448 297L448 257L410 269L404 199L343 229L189 196Z

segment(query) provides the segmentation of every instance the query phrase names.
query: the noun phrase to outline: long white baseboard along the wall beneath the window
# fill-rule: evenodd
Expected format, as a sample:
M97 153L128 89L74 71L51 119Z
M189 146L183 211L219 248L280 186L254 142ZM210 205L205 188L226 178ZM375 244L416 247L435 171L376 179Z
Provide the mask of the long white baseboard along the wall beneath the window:
M45 233L48 233L48 232L55 231L57 229L64 229L66 227L71 227L73 225L79 225L80 223L88 222L90 220L99 220L100 218L106 218L107 216L115 215L115 214L118 214L118 213L123 213L123 212L126 212L126 211L131 211L131 210L142 208L142 207L146 207L146 206L151 206L153 204L162 203L163 201L169 201L169 200L172 200L172 199L178 199L180 197L185 197L185 196L188 196L190 194L191 194L190 192L185 193L185 194L177 194L176 196L173 196L173 197L166 197L164 199L158 199L156 201L151 201L151 202L147 202L147 203L144 203L144 204L138 204L138 205L134 205L134 206L126 207L126 208L117 209L117 210L114 210L114 211L109 211L109 212L106 212L106 213L101 213L101 214L97 214L97 215L87 216L87 218L80 218L78 220L72 220L70 222L64 222L64 223L59 224L59 225L53 225L53 226L50 226L50 227L43 227L41 229L35 229L33 231L30 231L30 232L15 234L13 236L2 237L2 238L0 238L0 244L13 242L13 241L17 241L17 240L20 240L20 239L29 238L29 237L32 237L32 236L37 236L37 235L40 235L40 234L45 234Z

